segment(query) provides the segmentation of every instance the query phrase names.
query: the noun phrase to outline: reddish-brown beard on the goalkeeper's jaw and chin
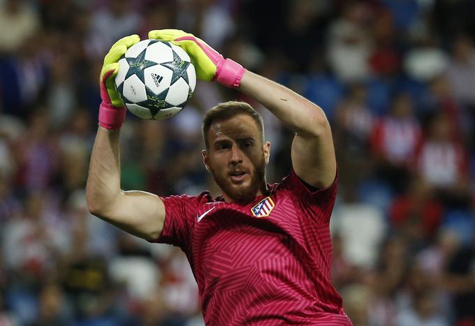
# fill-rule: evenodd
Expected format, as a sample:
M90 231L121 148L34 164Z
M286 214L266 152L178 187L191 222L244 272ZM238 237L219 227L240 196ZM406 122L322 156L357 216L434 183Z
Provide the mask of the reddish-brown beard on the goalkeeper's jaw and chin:
M211 169L211 173L221 190L228 195L229 198L235 202L246 204L256 198L256 194L259 190L265 190L265 159L262 157L261 162L254 166L256 169L254 175L249 174L251 177L251 184L244 186L242 184L233 184L229 179L228 173L219 173L214 169Z

